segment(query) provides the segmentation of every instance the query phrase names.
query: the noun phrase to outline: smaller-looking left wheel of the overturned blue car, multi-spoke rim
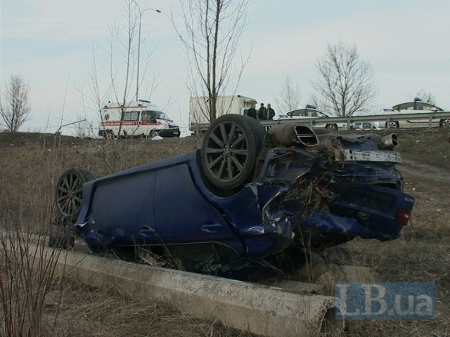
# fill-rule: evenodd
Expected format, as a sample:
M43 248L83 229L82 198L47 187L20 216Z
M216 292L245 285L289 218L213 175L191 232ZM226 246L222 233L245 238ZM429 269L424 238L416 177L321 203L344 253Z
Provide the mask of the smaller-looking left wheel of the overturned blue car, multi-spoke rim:
M83 169L68 169L55 186L56 208L63 218L71 223L77 220L82 207L83 184L94 180L91 172Z

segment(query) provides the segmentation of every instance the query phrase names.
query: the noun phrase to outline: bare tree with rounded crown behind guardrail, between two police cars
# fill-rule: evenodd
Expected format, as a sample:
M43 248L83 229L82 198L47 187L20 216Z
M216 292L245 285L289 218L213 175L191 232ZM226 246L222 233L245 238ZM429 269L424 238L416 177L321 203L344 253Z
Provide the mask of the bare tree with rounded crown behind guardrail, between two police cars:
M355 45L327 44L326 55L316 67L319 80L312 85L322 110L345 117L371 107L377 95L373 67L359 58Z

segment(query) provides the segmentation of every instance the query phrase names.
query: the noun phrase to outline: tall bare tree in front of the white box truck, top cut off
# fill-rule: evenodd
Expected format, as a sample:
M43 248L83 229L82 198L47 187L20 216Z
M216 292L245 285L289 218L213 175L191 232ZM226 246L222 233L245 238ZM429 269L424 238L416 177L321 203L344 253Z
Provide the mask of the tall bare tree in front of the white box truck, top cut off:
M248 0L179 0L183 29L172 24L179 34L188 60L187 86L191 96L205 96L203 117L217 117L217 97L240 81L248 58L236 64L236 52L247 25Z

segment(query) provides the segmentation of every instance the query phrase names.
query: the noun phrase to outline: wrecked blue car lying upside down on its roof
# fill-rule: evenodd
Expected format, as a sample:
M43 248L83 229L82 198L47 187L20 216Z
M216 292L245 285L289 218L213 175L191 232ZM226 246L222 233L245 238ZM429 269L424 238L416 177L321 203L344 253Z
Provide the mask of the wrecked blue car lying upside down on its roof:
M402 192L397 141L296 122L266 133L226 114L201 149L94 180L65 171L55 201L94 252L213 275L290 270L307 252L354 237L400 236L414 199Z

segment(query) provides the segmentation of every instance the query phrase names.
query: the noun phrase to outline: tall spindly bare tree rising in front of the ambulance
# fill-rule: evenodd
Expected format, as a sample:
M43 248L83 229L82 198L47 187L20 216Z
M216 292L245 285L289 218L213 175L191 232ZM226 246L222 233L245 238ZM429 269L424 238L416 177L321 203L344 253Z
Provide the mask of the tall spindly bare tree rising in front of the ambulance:
M136 100L149 99L158 84L158 72L150 69L154 50L147 49L146 54L141 55L141 45L145 42L145 37L141 39L141 20L148 10L157 13L161 11L141 8L134 0L123 0L122 6L124 18L110 28L109 46L98 48L95 42L91 46L91 73L87 81L89 93L86 94L83 88L79 88L83 93L85 106L92 106L92 110L97 113L106 100L125 106L134 95ZM102 52L108 58L107 61L102 58ZM142 65L139 65L140 59L143 59ZM105 78L107 81L103 81ZM108 85L101 88L103 83Z

